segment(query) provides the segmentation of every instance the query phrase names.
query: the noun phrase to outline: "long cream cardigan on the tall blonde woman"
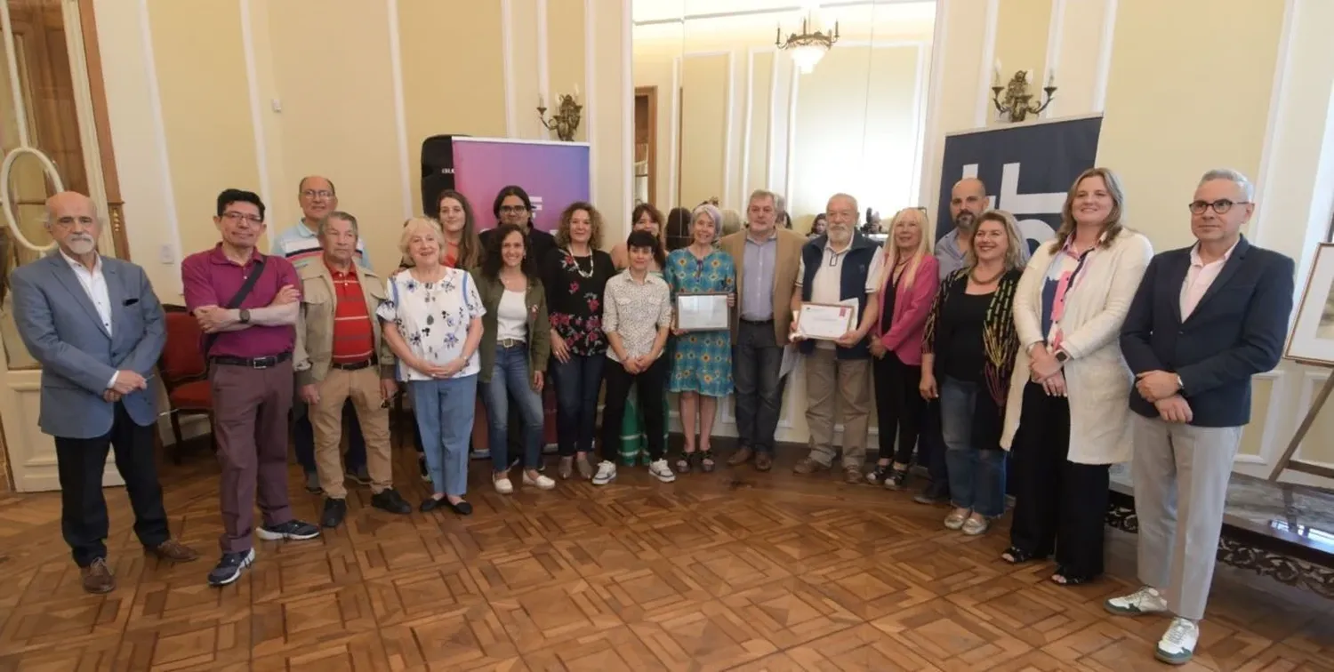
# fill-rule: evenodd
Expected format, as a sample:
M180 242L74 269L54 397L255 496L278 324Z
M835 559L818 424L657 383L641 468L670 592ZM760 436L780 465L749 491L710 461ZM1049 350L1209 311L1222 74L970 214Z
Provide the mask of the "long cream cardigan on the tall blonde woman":
M1066 293L1061 319L1066 396L1070 400L1070 452L1078 464L1130 461L1130 393L1134 376L1121 355L1121 324L1154 249L1149 239L1122 231L1111 245L1098 248ZM1014 295L1014 327L1019 355L1010 379L1000 447L1010 449L1023 413L1023 388L1029 383L1029 345L1046 340L1042 332L1042 285L1051 265L1051 243L1029 260ZM1031 419L1030 419L1031 420Z

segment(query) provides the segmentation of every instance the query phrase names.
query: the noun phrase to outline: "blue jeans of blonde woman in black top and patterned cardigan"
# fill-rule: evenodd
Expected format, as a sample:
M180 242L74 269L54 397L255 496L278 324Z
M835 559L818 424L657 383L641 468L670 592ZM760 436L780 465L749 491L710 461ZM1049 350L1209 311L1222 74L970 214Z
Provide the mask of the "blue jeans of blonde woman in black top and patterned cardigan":
M950 501L958 508L996 517L1005 513L1005 451L999 445L980 447L972 441L974 407L978 395L986 393L976 383L940 376L940 425Z

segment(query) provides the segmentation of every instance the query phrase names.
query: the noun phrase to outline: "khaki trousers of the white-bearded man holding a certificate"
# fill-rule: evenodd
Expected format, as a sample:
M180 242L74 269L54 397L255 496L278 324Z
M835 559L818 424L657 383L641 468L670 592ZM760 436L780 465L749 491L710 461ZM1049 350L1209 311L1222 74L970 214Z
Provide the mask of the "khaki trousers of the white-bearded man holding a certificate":
M806 356L806 424L811 431L811 459L834 464L834 395L843 420L843 467L862 467L871 417L871 360L840 360L832 349L815 348Z

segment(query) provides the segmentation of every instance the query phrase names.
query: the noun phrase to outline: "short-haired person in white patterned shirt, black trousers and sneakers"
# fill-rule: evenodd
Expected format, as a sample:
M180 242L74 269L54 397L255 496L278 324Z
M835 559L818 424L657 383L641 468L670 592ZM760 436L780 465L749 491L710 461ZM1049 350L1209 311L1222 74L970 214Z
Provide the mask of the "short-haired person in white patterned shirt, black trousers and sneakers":
M658 239L647 231L635 231L626 239L630 267L607 280L603 297L602 328L607 332L607 384L602 408L602 463L592 477L594 485L606 485L616 477L616 456L620 453L620 423L608 417L622 417L630 385L639 392L639 408L644 411L644 429L648 436L648 473L663 483L676 480L663 457L666 451L663 425L663 392L668 363L662 353L667 347L671 328L671 291L667 281L650 273L651 263L664 264Z

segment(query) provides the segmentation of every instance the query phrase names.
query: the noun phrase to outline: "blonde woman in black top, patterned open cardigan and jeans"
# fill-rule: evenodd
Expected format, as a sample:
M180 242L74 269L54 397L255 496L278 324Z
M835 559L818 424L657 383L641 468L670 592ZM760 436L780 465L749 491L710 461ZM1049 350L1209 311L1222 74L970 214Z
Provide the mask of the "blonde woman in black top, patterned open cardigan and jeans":
M1005 211L978 216L964 267L935 293L922 331L923 399L940 400L950 499L947 529L980 535L1005 513L1000 428L1019 337L1019 227Z

